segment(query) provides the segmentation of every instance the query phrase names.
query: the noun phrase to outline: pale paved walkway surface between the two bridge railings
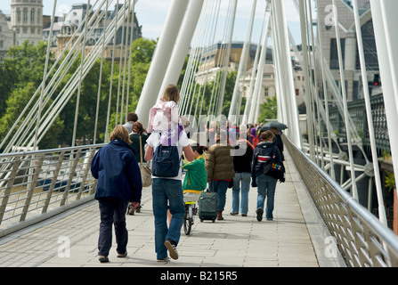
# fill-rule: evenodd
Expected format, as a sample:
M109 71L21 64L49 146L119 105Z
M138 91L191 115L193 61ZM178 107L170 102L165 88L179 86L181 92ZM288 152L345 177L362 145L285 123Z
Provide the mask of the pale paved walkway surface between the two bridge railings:
M247 217L230 216L231 190L227 192L224 221L200 223L196 217L191 236L178 246L180 258L158 263L154 252L154 223L150 188L142 194L142 212L127 216L129 242L126 258L110 251L110 263L100 264L97 240L100 215L96 201L69 210L43 223L0 239L0 265L40 266L343 266L341 257L325 255L329 232L321 221L286 151L287 182L277 185L274 220L256 220L256 189L249 191ZM69 256L63 237L68 238ZM113 238L115 240L115 238ZM60 254L61 253L61 254Z

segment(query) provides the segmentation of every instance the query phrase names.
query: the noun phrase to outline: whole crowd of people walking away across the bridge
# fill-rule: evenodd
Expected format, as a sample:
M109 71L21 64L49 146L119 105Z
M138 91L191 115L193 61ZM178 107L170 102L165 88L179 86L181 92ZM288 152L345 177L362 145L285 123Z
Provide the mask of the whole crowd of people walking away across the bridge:
M232 192L231 216L248 216L250 184L257 188L256 218L273 219L278 179L264 174L268 159L283 161L283 142L278 129L261 132L261 124L206 126L207 145L194 142L186 119L178 116L180 94L168 85L163 97L150 110L147 129L134 113L125 125L110 134L110 142L92 161L98 179L95 199L99 201L101 224L98 241L100 262L109 262L112 225L118 257L127 255L126 214L140 212L142 178L140 164L152 167L152 210L155 220L155 252L158 261L178 258L177 246L185 215L184 202L199 199L201 191L216 192L216 219L223 221L226 193ZM168 170L177 158L175 173ZM167 160L168 159L168 160ZM168 164L167 164L168 163ZM165 172L165 169L167 171ZM169 175L171 174L171 175ZM284 182L280 180L280 182ZM266 207L264 203L266 199Z

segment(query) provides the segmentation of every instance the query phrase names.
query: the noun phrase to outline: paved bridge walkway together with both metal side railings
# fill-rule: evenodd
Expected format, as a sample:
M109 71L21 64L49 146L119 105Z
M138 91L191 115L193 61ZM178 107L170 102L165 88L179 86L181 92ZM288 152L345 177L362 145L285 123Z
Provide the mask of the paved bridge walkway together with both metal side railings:
M256 189L249 215L200 223L182 234L177 261L158 264L151 191L142 212L127 216L128 256L111 266L395 266L398 238L332 181L304 152L288 146L287 182L278 184L272 222L256 220ZM102 145L2 155L9 173L1 188L3 266L99 266L99 208L89 162ZM5 164L4 164L5 165ZM25 174L22 174L22 173ZM62 175L61 175L62 174ZM63 177L63 178L62 178ZM4 180L5 181L5 180ZM231 250L233 248L233 250Z

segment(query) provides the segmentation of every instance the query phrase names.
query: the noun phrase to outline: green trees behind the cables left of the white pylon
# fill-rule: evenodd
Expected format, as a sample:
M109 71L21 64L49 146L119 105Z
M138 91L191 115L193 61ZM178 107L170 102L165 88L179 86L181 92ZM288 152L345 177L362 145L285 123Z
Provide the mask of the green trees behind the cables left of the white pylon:
M119 82L119 65L115 62L113 77L111 74L111 62L103 61L101 93L98 111L98 126L96 142L104 141L105 129L108 127L113 129L116 120L116 105L118 100L119 89L119 111L118 123L120 123L121 98L124 95L123 115L121 123L124 123L124 113L126 110L127 90L128 94L128 111L134 111L145 83L145 78L150 68L150 61L155 51L157 41L145 38L136 39L132 44L132 61L130 85L125 85L123 94L123 85L118 88ZM20 112L25 108L28 101L35 94L43 80L43 71L45 69L46 44L40 43L37 46L29 44L28 41L20 46L10 48L8 57L0 63L0 140L3 141L4 136L9 132L16 119L20 116ZM53 62L49 62L49 70ZM77 56L66 76L62 79L61 85L53 94L46 108L55 99L57 94L61 93L64 85L72 77L73 73L80 64L80 56ZM82 143L93 142L93 133L96 117L97 97L99 90L101 60L97 60L93 68L90 69L87 76L82 82L80 93L80 102L78 106L77 117L77 139L82 139ZM120 73L120 80L123 83L123 77L127 82L128 67L126 68L126 76L123 71ZM112 82L112 93L110 94L110 82ZM111 95L111 98L110 98ZM37 96L38 97L38 96ZM110 126L105 126L108 114L108 102L110 99ZM35 99L35 101L37 98ZM34 102L35 102L34 101ZM33 106L34 102L30 105ZM61 110L60 116L56 118L45 137L40 142L39 147L57 148L59 144L70 145L75 121L75 112L77 104L77 89L72 94L69 102ZM28 113L28 112L27 112ZM35 122L36 123L36 122Z

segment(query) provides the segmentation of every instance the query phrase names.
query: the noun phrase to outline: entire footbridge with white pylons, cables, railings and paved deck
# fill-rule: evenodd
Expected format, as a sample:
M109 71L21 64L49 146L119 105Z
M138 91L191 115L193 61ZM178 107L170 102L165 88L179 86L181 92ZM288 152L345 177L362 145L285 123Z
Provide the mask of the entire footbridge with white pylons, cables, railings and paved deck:
M125 31L126 25L134 26L131 15L136 1L116 5L115 17L110 20L107 15L111 2L97 0L88 5L87 16L54 62L50 62L48 47L42 84L2 138L0 260L3 266L100 265L96 258L99 212L93 199L96 181L90 173L90 162L95 151L109 140L109 129L114 127L110 127L111 110L115 111L112 118L116 124L124 123L126 113L131 111L128 110L130 69L126 69L130 66L131 45L130 49L126 43L119 46L118 87L112 89L110 80L109 98L101 89L100 72L96 116L92 118L95 121L93 144L76 145L83 80L97 60L105 60L106 46L113 45L115 50L118 30ZM228 4L228 9L223 2ZM199 133L203 122L223 116L237 126L258 122L266 79L267 48L262 46L267 47L271 38L278 120L288 125L283 135L288 179L287 183L277 186L275 220L257 222L254 206L248 217L228 216L227 208L225 221L194 224L191 236L183 237L179 246L181 259L159 265L154 262L151 194L150 189L144 189L142 213L127 217L128 258L110 256L110 265L397 266L398 238L387 224L378 159L382 151L391 151L393 165L398 163L398 129L394 127L398 121L398 59L394 53L398 50L398 38L396 33L391 33L391 27L398 25L394 15L398 2L370 0L368 12L361 14L359 3L366 1L317 0L317 7L321 5L330 10L324 13L317 9L315 16L313 1L293 0L301 26L302 45L298 51L288 28L285 1L267 0L255 55L249 53L259 9L253 0L235 85L229 94L231 101L224 105L237 2L172 1L135 112L147 126L150 107L158 101L167 84L177 84L190 51L181 84L180 115L188 118ZM219 13L222 8L227 11ZM348 16L353 20L351 26L345 22ZM378 30L373 35L378 51L373 50L371 54L369 43L363 43L361 37L370 19ZM106 27L100 40L86 49L101 21ZM224 32L218 45L220 39L215 42L215 32L220 29ZM134 28L130 30L133 32ZM331 43L336 45L336 54L330 55L331 63L322 48L321 30L333 34ZM52 32L53 21L50 37ZM341 45L342 32L346 36L345 53ZM215 46L219 46L216 55ZM292 65L293 53L298 66ZM112 54L110 77L114 77L115 54ZM253 55L250 61L249 54ZM368 78L375 76L374 69L368 70L370 55L376 56L379 63L381 81L377 84L382 83L383 87L378 96L370 94L374 89ZM73 64L79 57L81 63ZM211 69L209 59L214 63ZM67 70L71 76L67 76ZM297 70L301 72L301 79L297 77ZM214 81L211 90L207 82L210 77ZM348 86L346 77L357 79L356 89L362 90L361 107L355 101L348 102L347 93L353 85ZM296 88L297 81L301 83ZM245 82L249 84L246 86ZM298 114L297 90L304 97L302 120ZM38 151L38 143L73 96L76 113L71 146ZM98 144L100 102L105 102L108 111L104 143ZM229 109L228 114L225 109ZM397 174L396 169L391 172ZM366 186L362 184L364 181ZM374 197L377 201L372 200ZM255 205L256 189L251 189L249 201L249 205ZM227 203L231 203L230 193Z

